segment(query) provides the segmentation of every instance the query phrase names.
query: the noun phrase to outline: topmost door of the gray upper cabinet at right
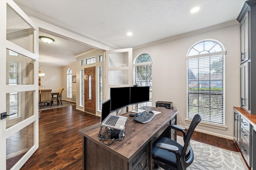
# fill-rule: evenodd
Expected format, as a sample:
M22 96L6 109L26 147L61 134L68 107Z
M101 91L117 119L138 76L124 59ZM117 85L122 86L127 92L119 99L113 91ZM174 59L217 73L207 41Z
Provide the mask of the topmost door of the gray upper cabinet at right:
M240 24L240 50L241 50L241 56L240 56L240 63L243 63L250 59L250 54L248 53L249 51L249 16L250 16L250 11L246 13L244 16L241 24Z

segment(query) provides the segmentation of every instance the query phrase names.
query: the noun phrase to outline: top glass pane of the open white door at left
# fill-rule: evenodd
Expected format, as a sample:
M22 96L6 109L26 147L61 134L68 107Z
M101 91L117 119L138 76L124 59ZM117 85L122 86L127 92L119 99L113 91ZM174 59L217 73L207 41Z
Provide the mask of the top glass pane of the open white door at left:
M7 6L6 39L34 53L34 28Z

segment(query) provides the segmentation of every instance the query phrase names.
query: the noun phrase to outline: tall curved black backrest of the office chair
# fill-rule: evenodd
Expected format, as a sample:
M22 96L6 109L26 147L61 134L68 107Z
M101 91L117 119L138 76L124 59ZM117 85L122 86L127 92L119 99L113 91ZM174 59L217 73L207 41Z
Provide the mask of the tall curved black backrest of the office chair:
M190 126L188 128L188 131L186 133L186 137L184 137L184 146L183 146L183 150L182 150L181 159L186 160L186 159L188 159L190 157L190 154L191 154L190 153L190 139L191 139L191 136L192 136L196 126L198 125L198 123L200 121L201 121L201 116L199 114L194 115L194 117L193 117L193 119L192 119L192 121L190 123ZM184 164L183 164L183 166L187 167Z

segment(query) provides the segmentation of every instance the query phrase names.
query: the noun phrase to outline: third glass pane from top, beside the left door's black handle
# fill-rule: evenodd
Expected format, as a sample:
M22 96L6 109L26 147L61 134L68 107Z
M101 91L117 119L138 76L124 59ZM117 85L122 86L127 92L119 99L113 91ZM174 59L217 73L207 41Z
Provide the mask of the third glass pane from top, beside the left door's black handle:
M6 129L34 114L34 91L6 94ZM11 115L13 114L13 115Z

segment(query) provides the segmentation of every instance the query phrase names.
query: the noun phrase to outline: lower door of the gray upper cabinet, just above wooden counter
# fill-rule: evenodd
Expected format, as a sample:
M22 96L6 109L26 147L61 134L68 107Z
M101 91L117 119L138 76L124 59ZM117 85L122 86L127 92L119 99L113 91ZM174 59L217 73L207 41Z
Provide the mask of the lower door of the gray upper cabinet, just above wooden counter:
M240 106L250 110L250 62L240 65Z

